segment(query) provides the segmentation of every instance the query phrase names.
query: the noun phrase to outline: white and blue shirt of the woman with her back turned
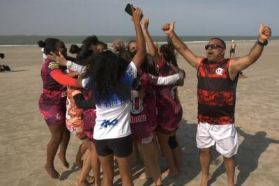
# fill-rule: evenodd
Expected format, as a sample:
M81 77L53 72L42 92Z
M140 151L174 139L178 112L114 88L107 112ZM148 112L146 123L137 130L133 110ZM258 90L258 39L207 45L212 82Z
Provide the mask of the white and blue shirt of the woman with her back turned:
M137 77L137 68L131 62L123 77L123 82L131 87L135 77ZM84 79L83 86L86 85L86 82L88 79ZM115 139L130 135L131 107L130 100L122 102L117 95L111 95L105 102L97 104L93 139Z

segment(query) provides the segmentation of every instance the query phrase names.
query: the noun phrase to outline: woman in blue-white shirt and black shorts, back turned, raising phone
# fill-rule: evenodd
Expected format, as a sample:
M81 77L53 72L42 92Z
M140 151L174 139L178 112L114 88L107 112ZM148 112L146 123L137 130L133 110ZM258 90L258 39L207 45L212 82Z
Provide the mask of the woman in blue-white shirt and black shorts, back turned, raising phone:
M141 15L140 8L133 10L138 49L132 62L128 63L111 51L101 52L94 57L93 65L89 65L85 75L88 78L82 81L92 91L96 102L93 139L104 173L102 185L113 184L114 155L119 164L122 185L133 185L130 90L146 54Z

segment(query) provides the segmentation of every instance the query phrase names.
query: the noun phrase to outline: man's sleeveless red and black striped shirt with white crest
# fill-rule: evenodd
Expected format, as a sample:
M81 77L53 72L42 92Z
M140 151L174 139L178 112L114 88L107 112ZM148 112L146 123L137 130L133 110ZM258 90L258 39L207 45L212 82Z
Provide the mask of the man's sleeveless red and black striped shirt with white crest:
M236 85L229 78L229 59L209 62L203 59L197 70L197 119L202 123L226 125L234 123Z

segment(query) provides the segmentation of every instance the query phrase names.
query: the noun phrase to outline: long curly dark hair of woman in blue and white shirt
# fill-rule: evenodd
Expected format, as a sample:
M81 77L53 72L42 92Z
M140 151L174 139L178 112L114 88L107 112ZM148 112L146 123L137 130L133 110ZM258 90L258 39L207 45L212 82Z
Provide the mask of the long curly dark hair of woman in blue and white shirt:
M107 50L100 52L92 59L85 77L89 77L86 88L91 89L96 104L114 104L106 102L110 96L116 95L119 100L126 102L130 99L130 88L123 81L129 62Z

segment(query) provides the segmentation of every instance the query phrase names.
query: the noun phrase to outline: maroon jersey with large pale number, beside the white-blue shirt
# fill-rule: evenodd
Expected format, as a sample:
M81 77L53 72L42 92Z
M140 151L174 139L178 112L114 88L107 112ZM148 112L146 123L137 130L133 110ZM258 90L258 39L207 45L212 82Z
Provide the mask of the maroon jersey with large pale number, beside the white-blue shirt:
M158 82L158 77L154 77L153 75L142 71L139 73L138 77L140 77L140 85L137 87L137 91L144 89L145 96L144 100L133 98L130 124L149 125L153 131L157 127L156 98L154 88Z

